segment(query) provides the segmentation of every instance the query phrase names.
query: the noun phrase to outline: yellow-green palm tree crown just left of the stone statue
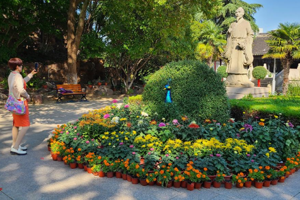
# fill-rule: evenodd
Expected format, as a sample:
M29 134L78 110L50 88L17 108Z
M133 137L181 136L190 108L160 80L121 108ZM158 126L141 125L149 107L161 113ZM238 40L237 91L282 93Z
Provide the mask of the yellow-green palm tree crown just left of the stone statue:
M208 66L217 60L226 44L225 35L221 28L211 20L202 23L195 21L192 25L193 37L198 41L195 56L197 59L206 59Z

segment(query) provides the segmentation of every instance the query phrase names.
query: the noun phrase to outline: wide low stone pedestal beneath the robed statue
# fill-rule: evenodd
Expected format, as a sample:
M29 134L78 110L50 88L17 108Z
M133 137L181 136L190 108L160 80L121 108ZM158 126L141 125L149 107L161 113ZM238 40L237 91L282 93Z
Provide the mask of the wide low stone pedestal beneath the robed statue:
M269 87L226 87L228 97L239 99L251 94L253 97L268 97Z

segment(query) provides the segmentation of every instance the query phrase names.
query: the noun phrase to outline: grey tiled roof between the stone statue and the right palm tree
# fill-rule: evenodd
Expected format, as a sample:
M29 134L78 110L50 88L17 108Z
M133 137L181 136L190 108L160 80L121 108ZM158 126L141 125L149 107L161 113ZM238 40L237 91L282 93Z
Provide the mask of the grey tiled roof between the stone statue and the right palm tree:
M263 55L268 51L269 46L267 45L265 40L268 40L269 38L270 35L267 33L259 33L254 37L252 45L253 55Z

